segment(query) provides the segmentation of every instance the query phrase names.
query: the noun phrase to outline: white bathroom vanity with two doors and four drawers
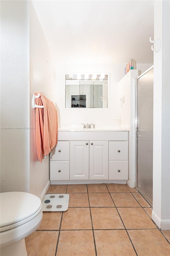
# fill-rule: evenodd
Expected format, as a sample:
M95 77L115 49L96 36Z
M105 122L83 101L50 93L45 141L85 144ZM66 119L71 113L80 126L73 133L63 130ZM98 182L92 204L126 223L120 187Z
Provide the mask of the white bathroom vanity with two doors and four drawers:
M50 153L51 184L126 183L128 130L60 129Z

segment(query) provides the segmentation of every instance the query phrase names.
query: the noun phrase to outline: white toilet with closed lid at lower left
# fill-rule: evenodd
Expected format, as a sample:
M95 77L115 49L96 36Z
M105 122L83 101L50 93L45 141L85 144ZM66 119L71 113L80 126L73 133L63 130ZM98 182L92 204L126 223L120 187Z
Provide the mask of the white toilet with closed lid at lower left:
M25 237L33 233L41 223L41 200L26 192L0 193L1 256L27 256Z

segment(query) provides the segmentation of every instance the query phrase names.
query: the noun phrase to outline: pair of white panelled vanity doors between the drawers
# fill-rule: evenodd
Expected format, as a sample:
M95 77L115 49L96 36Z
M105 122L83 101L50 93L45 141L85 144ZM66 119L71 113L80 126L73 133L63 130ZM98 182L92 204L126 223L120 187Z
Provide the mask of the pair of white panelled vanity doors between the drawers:
M103 180L108 175L108 141L70 141L70 180Z

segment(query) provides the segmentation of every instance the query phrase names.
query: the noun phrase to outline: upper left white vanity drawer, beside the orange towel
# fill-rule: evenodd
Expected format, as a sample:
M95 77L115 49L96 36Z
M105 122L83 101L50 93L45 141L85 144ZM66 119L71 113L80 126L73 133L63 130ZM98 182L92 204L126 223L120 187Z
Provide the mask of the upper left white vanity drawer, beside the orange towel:
M70 150L69 141L58 141L57 145L52 149L50 153L50 160L69 160Z

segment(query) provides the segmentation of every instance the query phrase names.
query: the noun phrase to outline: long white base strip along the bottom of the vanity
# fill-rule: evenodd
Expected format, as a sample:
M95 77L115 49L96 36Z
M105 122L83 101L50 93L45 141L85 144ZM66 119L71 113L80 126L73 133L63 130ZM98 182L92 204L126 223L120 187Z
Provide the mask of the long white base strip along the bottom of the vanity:
M116 183L116 184L126 184L127 180L84 180L84 181L51 181L51 185L61 185L61 184L101 184L101 183Z

